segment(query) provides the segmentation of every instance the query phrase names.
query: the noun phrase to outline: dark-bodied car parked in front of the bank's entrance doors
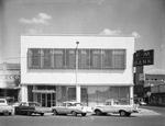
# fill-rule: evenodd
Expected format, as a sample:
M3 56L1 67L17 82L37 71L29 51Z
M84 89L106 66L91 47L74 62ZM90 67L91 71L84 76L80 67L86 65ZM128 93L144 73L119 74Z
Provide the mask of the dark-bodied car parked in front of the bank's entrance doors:
M40 114L43 116L45 112L45 108L37 102L22 102L19 106L15 106L15 115Z

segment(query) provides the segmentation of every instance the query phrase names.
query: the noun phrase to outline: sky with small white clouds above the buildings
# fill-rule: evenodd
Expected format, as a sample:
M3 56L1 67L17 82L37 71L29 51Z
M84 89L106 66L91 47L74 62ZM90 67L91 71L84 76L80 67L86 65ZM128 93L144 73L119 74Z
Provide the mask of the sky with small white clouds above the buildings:
M165 75L165 0L0 0L0 62L20 62L21 35L133 36Z

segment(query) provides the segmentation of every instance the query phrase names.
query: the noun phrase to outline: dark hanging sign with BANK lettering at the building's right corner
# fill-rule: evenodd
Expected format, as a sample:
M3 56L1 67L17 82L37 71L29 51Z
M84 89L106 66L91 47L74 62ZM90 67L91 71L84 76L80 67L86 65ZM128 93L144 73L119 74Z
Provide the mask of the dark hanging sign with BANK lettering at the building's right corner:
M140 50L133 55L133 66L154 65L154 50Z

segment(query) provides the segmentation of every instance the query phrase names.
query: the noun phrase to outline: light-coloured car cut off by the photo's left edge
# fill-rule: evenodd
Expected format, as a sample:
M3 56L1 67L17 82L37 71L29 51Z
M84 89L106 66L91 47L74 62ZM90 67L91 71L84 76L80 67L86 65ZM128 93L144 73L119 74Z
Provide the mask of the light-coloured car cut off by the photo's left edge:
M4 115L12 115L13 107L11 105L8 105L8 102L6 99L0 99L0 114Z

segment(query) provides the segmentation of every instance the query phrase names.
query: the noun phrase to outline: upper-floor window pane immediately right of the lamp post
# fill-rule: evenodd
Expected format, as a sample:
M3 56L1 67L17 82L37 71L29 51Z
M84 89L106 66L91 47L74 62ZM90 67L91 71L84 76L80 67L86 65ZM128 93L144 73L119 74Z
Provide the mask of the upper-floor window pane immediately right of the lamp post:
M80 49L78 51L78 68L89 68L90 56L89 49Z

